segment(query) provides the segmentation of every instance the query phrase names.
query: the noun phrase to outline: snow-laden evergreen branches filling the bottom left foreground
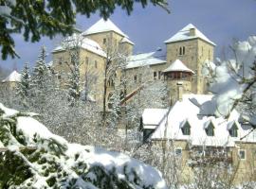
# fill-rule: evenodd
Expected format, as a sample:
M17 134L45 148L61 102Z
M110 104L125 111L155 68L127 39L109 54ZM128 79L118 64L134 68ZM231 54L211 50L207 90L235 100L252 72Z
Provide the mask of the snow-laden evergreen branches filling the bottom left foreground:
M33 115L0 104L0 188L167 188L150 165L69 144Z

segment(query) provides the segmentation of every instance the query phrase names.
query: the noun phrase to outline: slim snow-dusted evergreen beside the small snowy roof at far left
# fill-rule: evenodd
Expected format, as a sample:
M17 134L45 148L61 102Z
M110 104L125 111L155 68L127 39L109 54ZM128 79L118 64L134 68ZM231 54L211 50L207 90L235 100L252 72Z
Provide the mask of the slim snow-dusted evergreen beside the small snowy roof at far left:
M29 90L31 85L31 80L30 80L30 74L29 74L29 65L26 62L25 66L23 68L23 71L21 73L21 81L18 82L17 85L17 95L22 98L24 102L27 101L27 97L29 95Z

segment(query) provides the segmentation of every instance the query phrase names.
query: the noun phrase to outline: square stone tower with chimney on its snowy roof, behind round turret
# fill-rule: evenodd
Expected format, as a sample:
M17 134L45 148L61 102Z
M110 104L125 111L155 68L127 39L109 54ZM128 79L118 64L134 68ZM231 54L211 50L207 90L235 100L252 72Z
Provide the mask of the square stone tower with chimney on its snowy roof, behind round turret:
M202 65L206 60L213 60L215 43L211 42L192 24L185 26L169 40L167 47L167 64L181 60L194 72L192 76L192 93L207 93L206 80L202 76Z

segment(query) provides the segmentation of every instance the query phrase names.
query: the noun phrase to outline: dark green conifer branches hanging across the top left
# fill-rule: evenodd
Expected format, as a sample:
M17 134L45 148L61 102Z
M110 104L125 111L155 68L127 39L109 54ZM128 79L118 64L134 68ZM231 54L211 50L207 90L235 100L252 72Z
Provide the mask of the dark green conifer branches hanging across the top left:
M117 7L130 14L135 3L145 8L149 3L162 8L166 0L0 0L1 56L6 60L19 57L15 52L12 34L23 33L25 41L40 41L42 36L68 35L74 30L76 14L89 17L99 11L107 19Z

